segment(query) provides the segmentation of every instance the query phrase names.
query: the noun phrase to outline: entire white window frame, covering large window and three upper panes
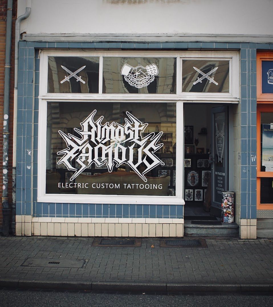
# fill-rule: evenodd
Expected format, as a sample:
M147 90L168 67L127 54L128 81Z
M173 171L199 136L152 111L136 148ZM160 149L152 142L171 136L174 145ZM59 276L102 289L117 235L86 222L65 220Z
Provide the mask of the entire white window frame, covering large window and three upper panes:
M99 56L99 93L47 93L48 56ZM102 94L102 60L103 56L122 57L176 57L176 94ZM230 59L231 93L182 93L182 59ZM183 102L221 103L239 102L239 53L238 52L155 52L155 51L42 51L40 54L40 88L39 88L39 125L38 125L38 202L48 203L99 203L99 204L185 204L183 200L184 171L184 124ZM176 195L142 196L142 195L91 195L91 194L46 194L46 125L47 102L50 101L127 101L127 102L175 102L176 103Z

